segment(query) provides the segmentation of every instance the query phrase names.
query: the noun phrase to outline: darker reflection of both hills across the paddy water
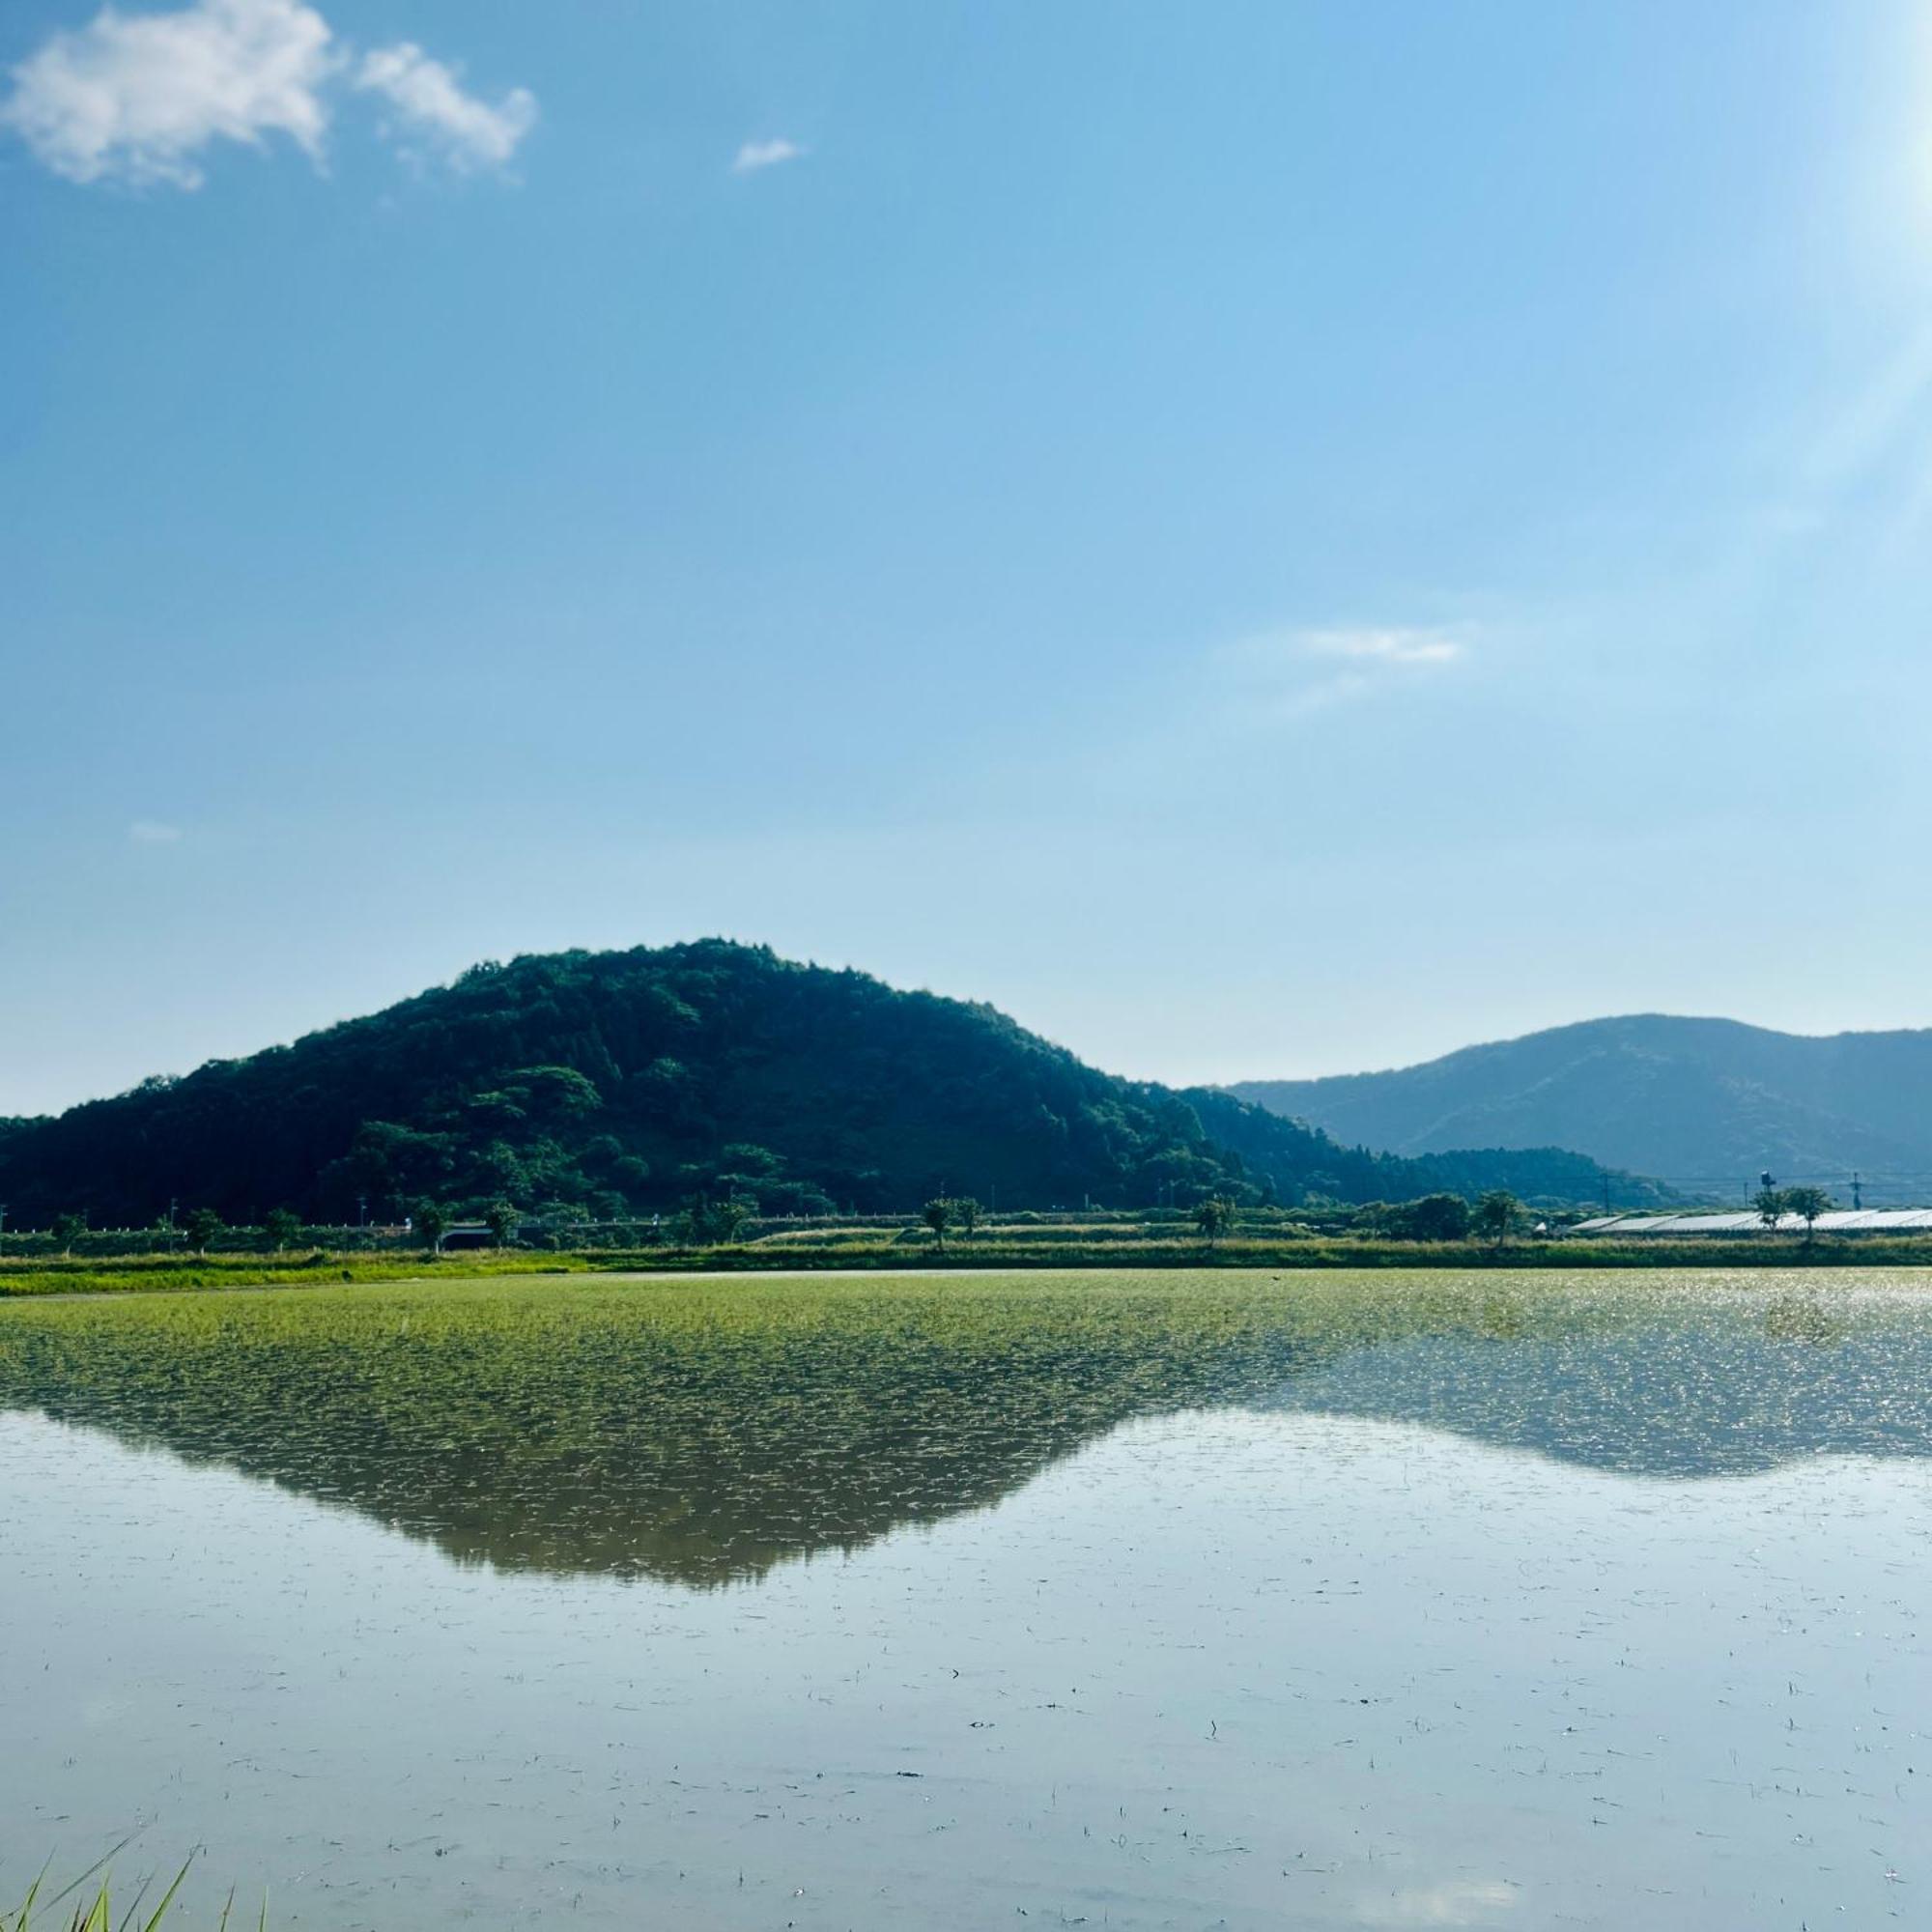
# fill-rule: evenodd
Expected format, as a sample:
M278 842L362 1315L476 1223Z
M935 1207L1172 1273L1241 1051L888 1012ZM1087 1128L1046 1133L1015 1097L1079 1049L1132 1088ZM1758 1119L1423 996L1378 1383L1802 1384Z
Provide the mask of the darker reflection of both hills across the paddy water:
M350 1505L458 1561L699 1588L983 1507L1130 1416L1202 1405L1648 1476L1932 1449L1917 1294L960 1279L728 1306L601 1287L0 1314L4 1406Z

